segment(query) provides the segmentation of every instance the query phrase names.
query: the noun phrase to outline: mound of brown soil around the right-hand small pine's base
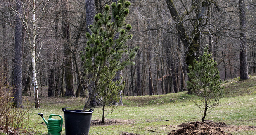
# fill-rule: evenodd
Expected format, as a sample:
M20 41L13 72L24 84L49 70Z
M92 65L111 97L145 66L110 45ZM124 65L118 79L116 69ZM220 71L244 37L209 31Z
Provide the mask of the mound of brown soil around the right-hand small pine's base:
M167 135L231 135L231 133L225 133L220 127L227 127L224 122L189 122L182 123L178 127L182 127L178 130L172 130Z

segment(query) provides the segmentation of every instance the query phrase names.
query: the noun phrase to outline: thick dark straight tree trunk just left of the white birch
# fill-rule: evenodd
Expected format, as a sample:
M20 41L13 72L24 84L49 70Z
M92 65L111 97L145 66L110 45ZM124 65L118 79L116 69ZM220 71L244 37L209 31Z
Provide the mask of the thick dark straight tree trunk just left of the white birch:
M22 1L17 0L16 3L16 19L15 19L15 47L14 47L14 99L13 105L17 108L23 108L22 105L22 54L23 54L23 38L24 38L24 27L22 24Z

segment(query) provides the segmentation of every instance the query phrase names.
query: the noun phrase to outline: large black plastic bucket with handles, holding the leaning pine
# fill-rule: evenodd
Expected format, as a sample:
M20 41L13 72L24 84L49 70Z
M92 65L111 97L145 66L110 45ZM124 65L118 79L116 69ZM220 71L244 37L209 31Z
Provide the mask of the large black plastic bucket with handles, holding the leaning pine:
M67 110L62 108L65 117L66 135L88 135L93 110Z

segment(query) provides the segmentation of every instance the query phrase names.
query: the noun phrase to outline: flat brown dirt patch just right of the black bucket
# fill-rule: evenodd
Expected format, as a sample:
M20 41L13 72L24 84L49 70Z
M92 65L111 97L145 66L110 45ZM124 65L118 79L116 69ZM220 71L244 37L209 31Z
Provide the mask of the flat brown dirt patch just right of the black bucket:
M131 120L109 120L105 119L103 123L102 120L91 120L91 126L102 126L102 125L118 125L118 124L129 124Z

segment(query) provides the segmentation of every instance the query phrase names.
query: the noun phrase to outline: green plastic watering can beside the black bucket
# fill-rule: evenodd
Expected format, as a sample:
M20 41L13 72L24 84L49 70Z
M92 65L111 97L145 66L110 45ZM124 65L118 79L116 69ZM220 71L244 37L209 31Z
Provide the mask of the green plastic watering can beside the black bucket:
M43 118L43 113L38 113L38 115ZM61 118L61 120L54 119L52 116L58 116ZM43 118L43 121L45 121L45 124L48 128L48 135L61 135L63 125L63 119L61 115L50 115L48 122L45 120L45 118Z

